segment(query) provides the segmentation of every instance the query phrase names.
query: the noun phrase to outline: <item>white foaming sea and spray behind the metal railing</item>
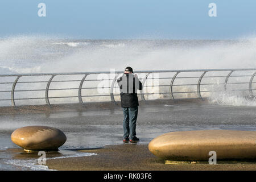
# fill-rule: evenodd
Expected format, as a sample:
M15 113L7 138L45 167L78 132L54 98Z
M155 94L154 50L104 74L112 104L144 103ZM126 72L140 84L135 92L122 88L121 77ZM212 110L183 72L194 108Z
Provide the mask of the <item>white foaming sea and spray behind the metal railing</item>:
M18 36L0 39L0 74L89 72L110 71L110 69L122 71L128 65L133 67L135 72L161 69L256 68L255 49L255 38L243 40L68 40L46 36ZM45 78L45 81L47 80L48 78ZM187 84L191 83L187 82ZM167 84L170 84L170 80ZM79 85L65 82L59 84L58 88L62 86L77 88ZM45 86L35 86L35 89L42 88L45 89ZM196 90L189 86L180 86L175 89L175 92ZM253 89L255 89L255 84ZM201 90L207 89L201 88ZM169 92L168 88L162 91ZM95 92L97 90L86 90L86 94L98 94ZM60 93L63 94L61 96L77 96L77 90L61 90L60 92L52 91L50 97L58 97ZM22 97L29 96L24 93L16 94L22 94ZM192 97L194 95L188 93L179 96ZM35 97L36 92L31 96ZM44 97L44 93L42 92L38 97ZM149 97L151 96L147 96ZM160 97L165 96L160 95ZM98 98L106 100L104 97ZM90 101L91 98L83 99ZM92 101L95 99L93 98ZM60 99L57 100L60 101ZM77 98L70 100L78 101ZM44 100L41 101L44 102ZM26 102L30 104L32 101ZM214 103L221 102L215 101Z

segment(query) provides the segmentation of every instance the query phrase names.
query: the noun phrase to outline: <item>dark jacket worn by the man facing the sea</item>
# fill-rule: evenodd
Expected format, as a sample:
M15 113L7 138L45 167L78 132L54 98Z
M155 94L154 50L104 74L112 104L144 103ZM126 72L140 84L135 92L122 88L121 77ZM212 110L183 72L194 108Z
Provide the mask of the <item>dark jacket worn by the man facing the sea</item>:
M117 79L120 88L121 106L136 107L139 105L137 90L142 90L143 86L139 78L134 74L123 74Z

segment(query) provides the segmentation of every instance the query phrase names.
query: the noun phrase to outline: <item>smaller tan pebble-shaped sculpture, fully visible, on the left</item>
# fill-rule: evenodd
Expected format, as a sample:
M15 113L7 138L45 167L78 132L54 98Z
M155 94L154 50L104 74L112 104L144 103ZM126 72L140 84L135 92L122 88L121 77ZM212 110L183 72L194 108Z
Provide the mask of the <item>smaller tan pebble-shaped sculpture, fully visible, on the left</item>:
M57 150L67 137L59 129L48 126L27 126L16 129L11 140L24 150Z

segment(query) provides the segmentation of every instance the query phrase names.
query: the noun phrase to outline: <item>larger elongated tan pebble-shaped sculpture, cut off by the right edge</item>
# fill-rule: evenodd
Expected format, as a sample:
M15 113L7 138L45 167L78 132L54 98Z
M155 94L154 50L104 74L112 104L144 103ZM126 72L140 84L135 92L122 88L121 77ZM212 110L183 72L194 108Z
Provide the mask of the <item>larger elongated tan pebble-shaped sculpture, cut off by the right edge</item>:
M152 154L165 160L256 159L256 131L176 131L156 137L148 144Z

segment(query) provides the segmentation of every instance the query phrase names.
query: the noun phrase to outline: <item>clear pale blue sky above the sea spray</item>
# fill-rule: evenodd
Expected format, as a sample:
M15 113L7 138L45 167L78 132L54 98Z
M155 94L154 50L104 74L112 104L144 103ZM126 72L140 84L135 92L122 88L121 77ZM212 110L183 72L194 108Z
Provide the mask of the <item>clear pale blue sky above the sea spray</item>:
M46 17L38 16L40 2ZM255 35L255 9L255 0L1 0L0 37L236 39Z

